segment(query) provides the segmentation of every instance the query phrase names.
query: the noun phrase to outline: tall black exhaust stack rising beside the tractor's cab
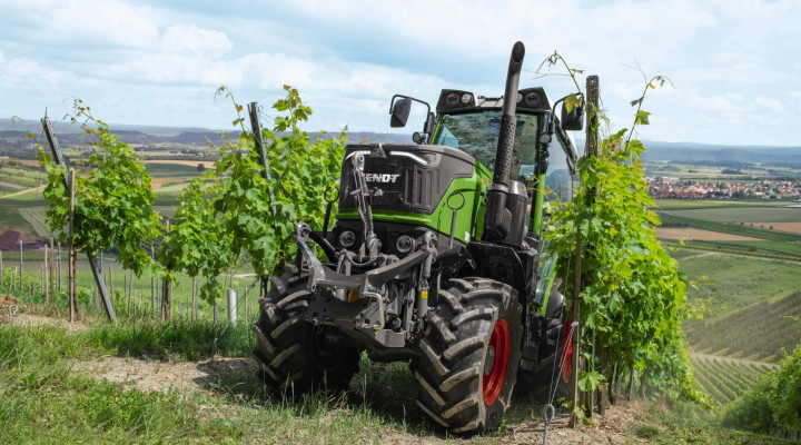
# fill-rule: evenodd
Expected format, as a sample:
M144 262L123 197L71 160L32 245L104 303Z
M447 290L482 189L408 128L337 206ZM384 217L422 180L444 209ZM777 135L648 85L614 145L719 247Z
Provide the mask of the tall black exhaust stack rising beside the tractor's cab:
M484 216L484 239L491 243L507 240L512 226L512 214L506 208L508 195L508 174L512 166L512 150L514 149L515 128L517 127L517 87L523 67L525 47L517 42L512 48L510 69L506 75L506 91L501 116L501 134L498 135L497 152L495 155L495 172L493 184L487 190L487 210Z

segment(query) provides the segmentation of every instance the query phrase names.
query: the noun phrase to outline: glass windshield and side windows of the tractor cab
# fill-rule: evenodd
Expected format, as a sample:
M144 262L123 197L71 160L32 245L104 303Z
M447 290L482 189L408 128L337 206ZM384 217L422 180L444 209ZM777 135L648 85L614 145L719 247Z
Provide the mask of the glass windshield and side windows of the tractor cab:
M510 179L531 186L536 171L536 142L542 129L542 115L517 115ZM495 152L501 132L501 110L486 110L442 118L433 144L457 148L471 154L490 172L495 169ZM545 187L551 199L572 199L567 157L558 144L552 144L547 158Z

